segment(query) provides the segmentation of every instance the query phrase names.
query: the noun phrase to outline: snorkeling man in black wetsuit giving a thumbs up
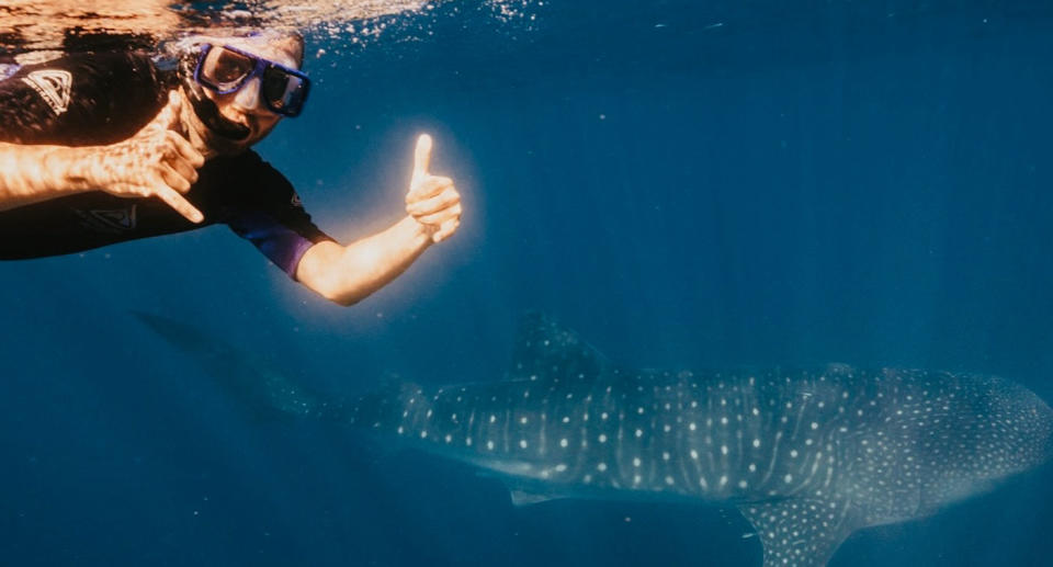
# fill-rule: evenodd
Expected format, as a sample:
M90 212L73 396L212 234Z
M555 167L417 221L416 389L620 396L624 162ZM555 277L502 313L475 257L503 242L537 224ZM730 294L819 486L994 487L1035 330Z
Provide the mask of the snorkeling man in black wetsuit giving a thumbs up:
M250 149L296 116L298 35L197 36L176 69L139 53L70 54L0 76L0 259L70 253L226 224L341 305L394 280L460 226L460 195L420 136L407 216L341 246Z

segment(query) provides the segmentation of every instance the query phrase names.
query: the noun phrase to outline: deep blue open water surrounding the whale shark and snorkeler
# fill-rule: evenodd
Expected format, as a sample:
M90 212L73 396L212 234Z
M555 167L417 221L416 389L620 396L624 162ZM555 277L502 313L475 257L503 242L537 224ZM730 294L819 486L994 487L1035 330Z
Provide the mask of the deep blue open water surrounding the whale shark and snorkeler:
M429 132L461 230L351 308L223 227L0 263L0 564L759 566L734 511L517 510L460 466L253 419L128 311L333 395L497 379L542 309L638 366L940 367L1053 400L1053 5L1004 4L464 1L314 38L309 107L261 154L352 239L399 218ZM1050 565L1051 480L831 565Z

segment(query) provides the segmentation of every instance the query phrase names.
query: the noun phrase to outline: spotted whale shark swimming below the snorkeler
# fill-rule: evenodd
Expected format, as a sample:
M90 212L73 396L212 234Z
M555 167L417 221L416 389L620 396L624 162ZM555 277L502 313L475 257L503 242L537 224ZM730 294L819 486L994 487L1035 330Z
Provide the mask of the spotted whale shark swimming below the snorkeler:
M139 315L223 379L259 363ZM262 378L261 378L262 376ZM398 382L335 400L275 373L237 392L500 478L513 502L709 502L754 526L763 567L822 567L852 532L928 517L1044 463L1053 410L990 375L847 364L632 370L533 314L501 379Z

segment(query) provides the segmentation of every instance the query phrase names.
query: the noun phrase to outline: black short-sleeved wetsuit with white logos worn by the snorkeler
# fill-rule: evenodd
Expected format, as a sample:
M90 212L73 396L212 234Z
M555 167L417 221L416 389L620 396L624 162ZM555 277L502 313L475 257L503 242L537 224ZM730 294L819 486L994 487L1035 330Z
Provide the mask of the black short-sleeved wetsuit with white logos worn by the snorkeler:
M3 69L0 69L3 70ZM0 73L0 141L94 146L145 126L176 87L143 53L71 54ZM7 78L4 78L7 76ZM185 195L205 215L197 225L159 199L78 193L0 211L0 259L65 254L226 224L295 276L304 252L331 240L292 184L254 151L210 159Z

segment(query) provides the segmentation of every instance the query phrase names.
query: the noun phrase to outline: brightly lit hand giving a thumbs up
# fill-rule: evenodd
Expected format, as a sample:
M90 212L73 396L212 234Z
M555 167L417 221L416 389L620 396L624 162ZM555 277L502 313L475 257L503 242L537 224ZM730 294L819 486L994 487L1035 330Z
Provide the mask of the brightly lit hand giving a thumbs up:
M406 194L406 212L428 228L432 242L449 238L461 226L461 194L450 178L428 172L431 136L421 134L414 152L414 177Z

